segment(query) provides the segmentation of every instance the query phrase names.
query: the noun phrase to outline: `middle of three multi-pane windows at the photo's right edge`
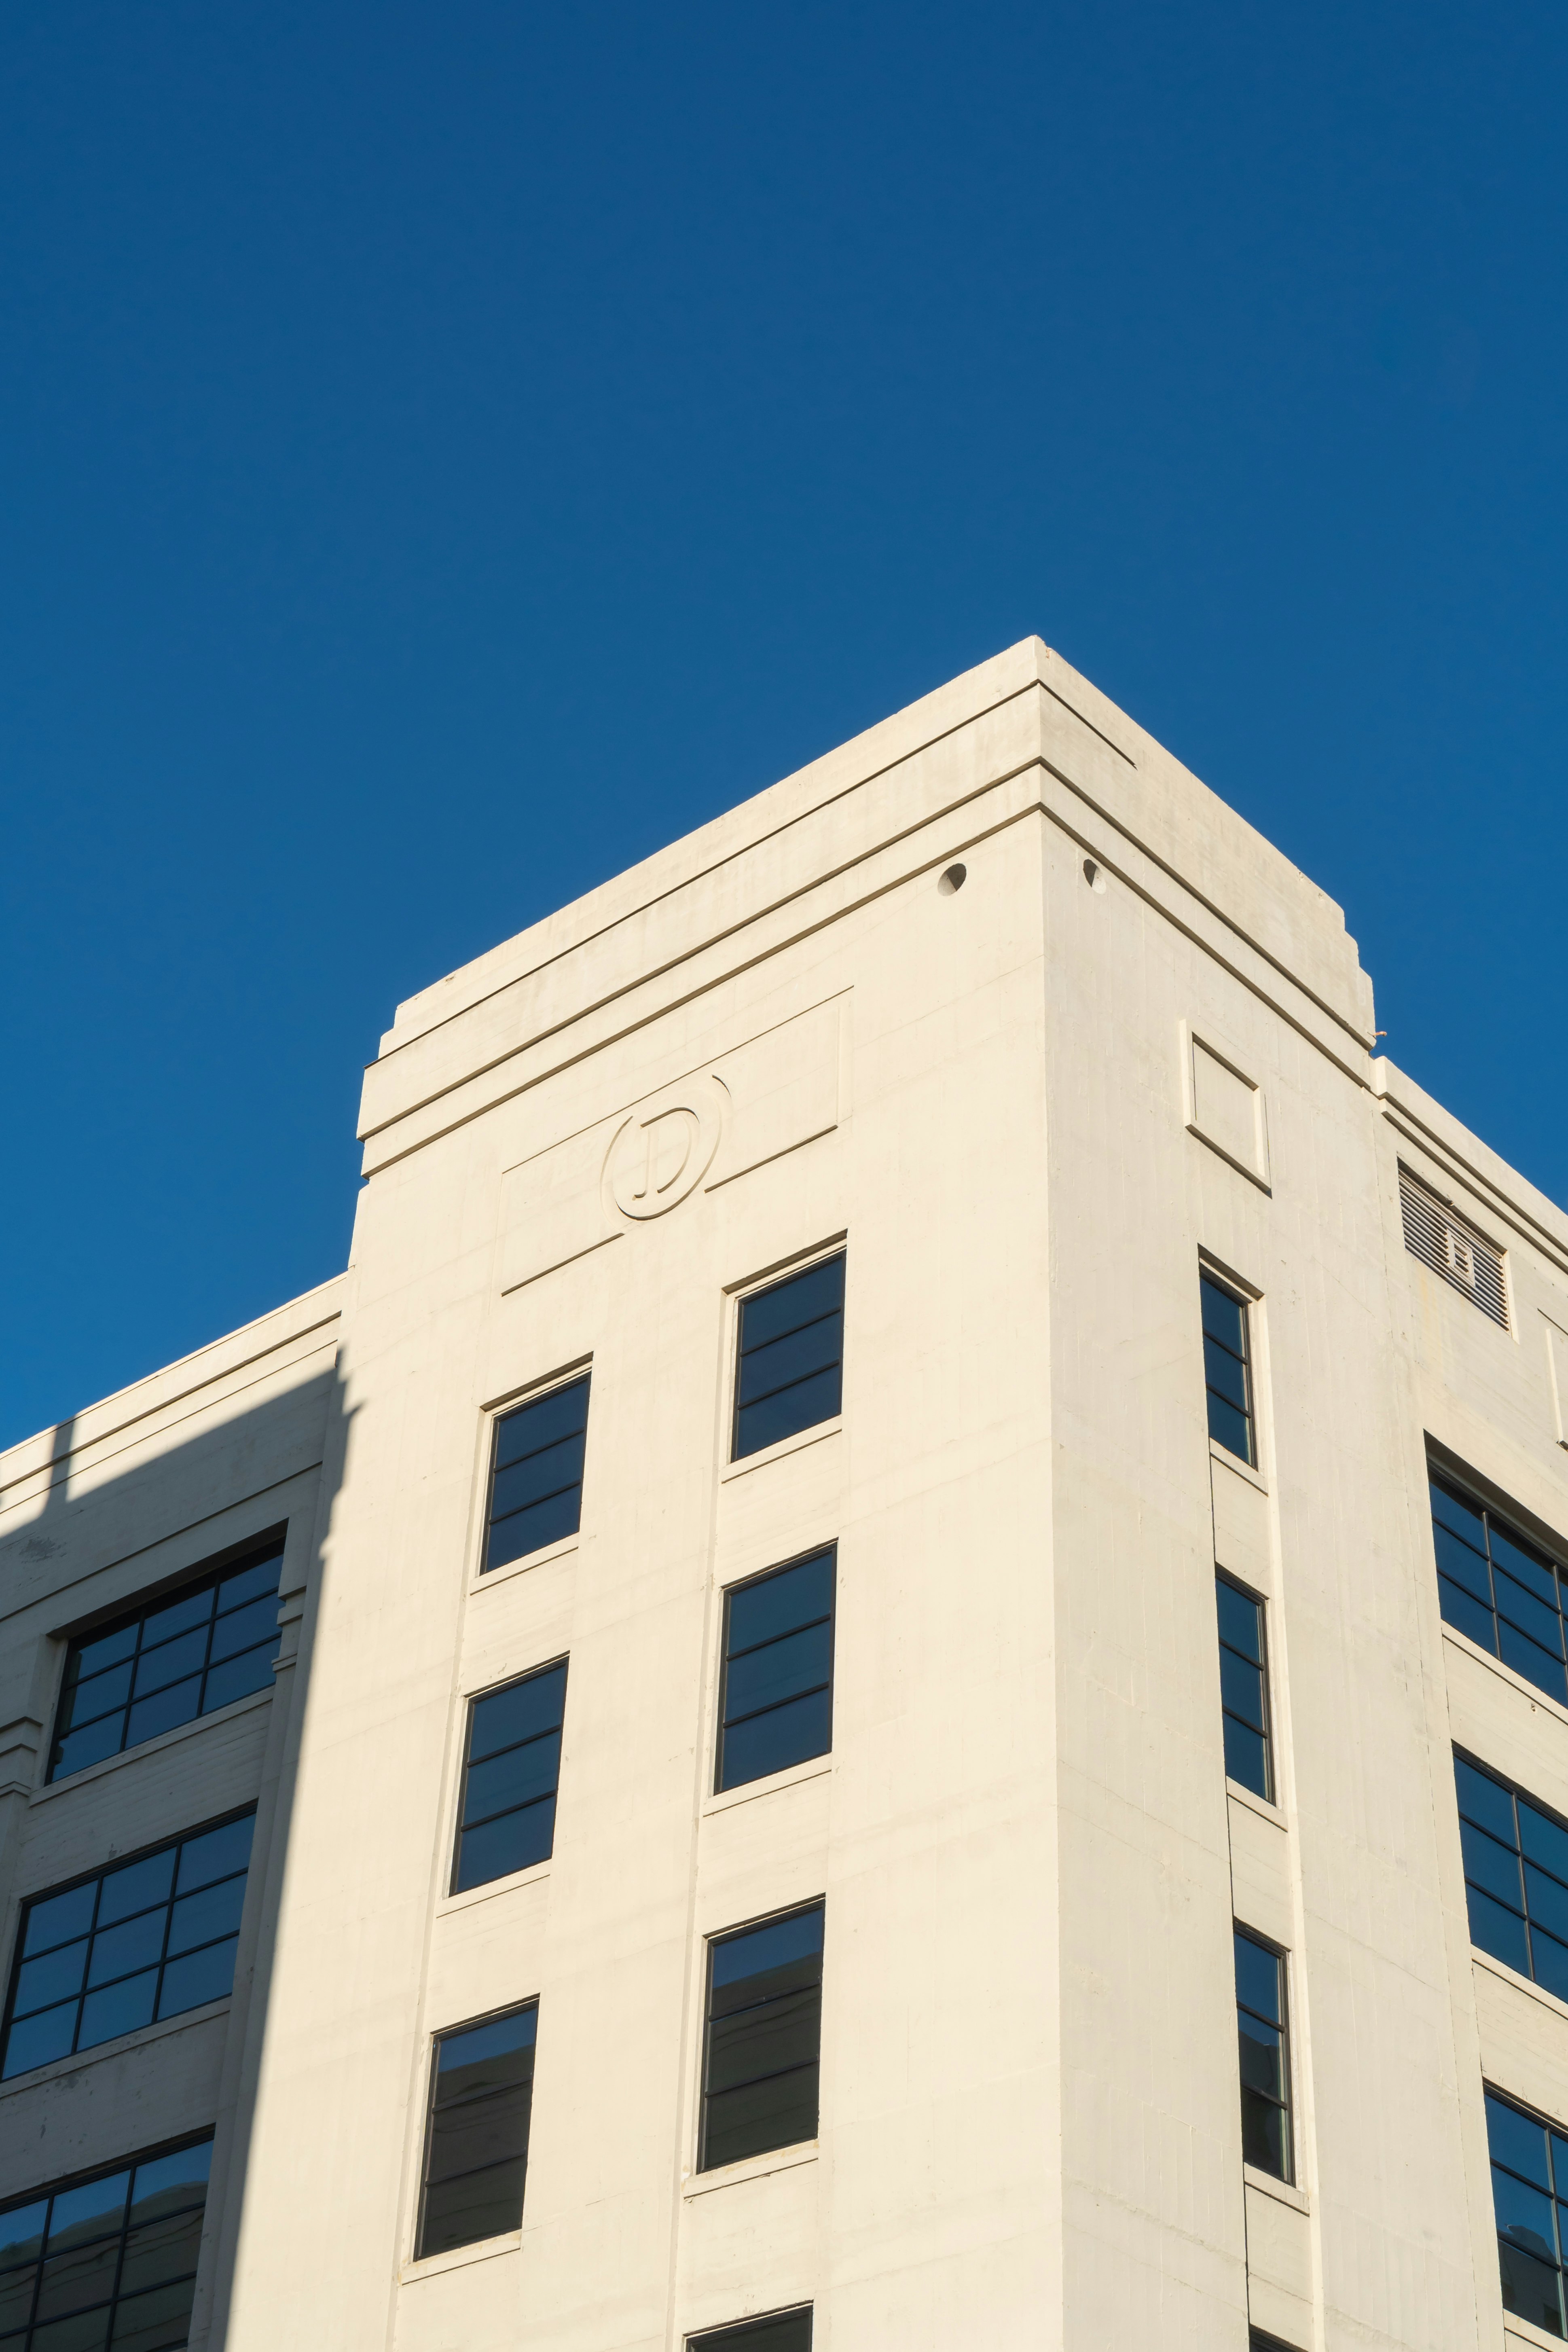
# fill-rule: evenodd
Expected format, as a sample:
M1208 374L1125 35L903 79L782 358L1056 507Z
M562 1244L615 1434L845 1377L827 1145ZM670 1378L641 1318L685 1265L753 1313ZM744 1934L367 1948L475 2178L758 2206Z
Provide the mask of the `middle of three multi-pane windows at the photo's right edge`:
M1469 1940L1568 2002L1568 1828L1467 1757L1453 1778Z

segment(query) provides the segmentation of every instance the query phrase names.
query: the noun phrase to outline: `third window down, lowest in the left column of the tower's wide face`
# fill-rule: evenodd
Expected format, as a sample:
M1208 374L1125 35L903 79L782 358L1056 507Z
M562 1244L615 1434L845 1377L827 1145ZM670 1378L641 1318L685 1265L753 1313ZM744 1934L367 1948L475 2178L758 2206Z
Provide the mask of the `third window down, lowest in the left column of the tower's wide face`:
M522 2225L538 2002L435 2037L418 2258Z

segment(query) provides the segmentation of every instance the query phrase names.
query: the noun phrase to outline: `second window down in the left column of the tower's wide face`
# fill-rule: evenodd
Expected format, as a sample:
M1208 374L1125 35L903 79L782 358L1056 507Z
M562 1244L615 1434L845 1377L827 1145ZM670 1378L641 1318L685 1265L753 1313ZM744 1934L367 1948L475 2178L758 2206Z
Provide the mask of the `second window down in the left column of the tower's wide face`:
M564 1712L564 1658L475 1698L468 1710L454 1896L550 1860Z

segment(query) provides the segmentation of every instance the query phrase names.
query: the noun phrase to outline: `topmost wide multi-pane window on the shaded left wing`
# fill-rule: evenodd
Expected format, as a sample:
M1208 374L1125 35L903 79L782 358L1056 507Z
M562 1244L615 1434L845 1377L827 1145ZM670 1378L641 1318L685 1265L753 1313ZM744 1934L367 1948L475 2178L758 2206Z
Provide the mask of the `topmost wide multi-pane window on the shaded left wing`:
M282 1642L280 1571L282 1545L73 1642L49 1778L85 1771L230 1698L270 1691Z

